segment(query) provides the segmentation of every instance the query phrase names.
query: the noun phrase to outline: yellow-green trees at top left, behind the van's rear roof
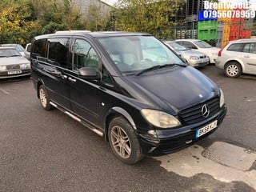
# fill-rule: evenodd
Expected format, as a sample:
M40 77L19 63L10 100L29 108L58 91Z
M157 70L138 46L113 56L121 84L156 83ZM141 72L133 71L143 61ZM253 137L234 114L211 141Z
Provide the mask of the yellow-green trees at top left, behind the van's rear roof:
M0 1L0 43L25 45L38 34L84 27L71 0Z

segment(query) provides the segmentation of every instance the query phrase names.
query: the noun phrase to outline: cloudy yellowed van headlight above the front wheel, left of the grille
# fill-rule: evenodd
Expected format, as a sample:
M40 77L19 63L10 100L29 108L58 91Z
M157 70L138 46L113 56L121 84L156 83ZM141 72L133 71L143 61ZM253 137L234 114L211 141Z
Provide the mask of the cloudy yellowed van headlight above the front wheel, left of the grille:
M142 109L142 115L153 126L160 128L172 128L181 125L177 118L174 118L171 114L166 114L160 110L148 110Z

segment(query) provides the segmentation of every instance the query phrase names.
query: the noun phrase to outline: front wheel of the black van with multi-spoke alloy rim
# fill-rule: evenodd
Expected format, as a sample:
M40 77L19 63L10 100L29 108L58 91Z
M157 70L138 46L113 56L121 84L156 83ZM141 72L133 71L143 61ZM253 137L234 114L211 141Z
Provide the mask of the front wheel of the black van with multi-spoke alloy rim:
M114 118L110 122L108 137L111 149L122 162L134 164L144 157L134 129L125 118Z

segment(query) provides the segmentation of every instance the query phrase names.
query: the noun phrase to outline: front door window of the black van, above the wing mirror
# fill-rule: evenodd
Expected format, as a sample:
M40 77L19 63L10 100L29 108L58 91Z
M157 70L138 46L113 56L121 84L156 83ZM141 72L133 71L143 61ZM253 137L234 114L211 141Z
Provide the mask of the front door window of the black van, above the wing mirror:
M74 42L73 65L74 70L86 66L98 68L98 54L85 40L76 39Z

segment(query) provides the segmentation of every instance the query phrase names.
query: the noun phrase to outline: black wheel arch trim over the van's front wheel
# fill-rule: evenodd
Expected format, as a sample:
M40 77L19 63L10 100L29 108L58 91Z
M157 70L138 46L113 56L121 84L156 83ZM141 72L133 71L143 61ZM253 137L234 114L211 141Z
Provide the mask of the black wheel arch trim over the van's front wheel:
M108 129L110 122L117 117L122 116L123 118L126 118L126 120L130 123L130 125L133 127L134 130L137 130L137 127L135 125L134 119L130 116L130 114L124 110L122 107L114 106L112 107L109 112L106 114L105 118L105 139L108 141Z

